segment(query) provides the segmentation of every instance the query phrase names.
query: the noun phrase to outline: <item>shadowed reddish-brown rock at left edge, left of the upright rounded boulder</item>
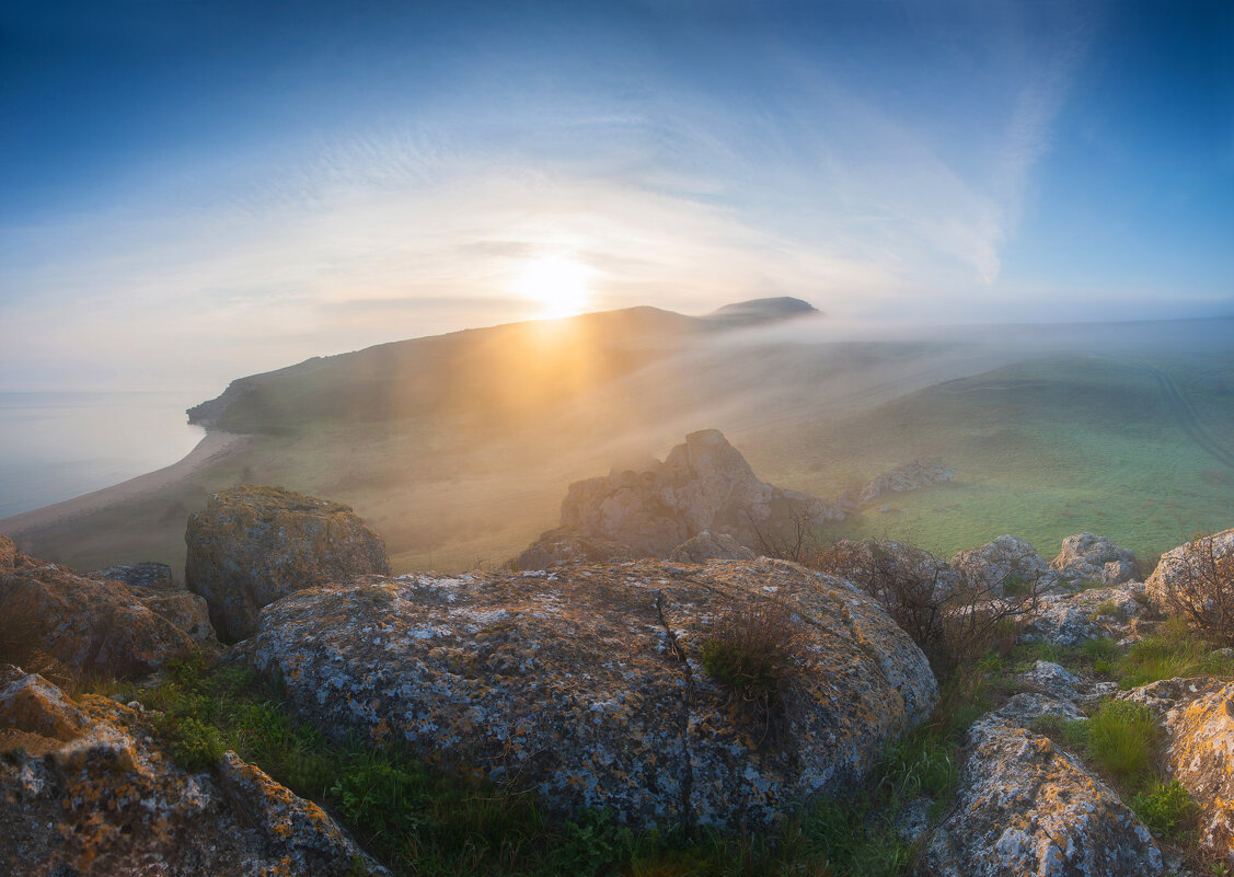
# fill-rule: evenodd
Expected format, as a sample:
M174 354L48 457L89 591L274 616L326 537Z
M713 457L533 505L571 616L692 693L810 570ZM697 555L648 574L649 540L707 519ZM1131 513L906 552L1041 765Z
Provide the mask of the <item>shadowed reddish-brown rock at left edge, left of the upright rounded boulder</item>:
M199 629L200 598L168 601L164 595L19 554L7 572L0 571L6 660L64 676L144 676L213 640L209 625Z

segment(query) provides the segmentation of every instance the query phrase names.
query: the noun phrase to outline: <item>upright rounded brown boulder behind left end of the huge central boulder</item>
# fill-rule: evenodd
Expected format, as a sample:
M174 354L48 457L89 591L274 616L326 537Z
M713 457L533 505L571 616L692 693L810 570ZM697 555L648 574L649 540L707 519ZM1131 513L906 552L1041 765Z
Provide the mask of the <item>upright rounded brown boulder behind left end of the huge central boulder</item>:
M222 636L244 639L263 606L300 588L389 575L385 543L349 507L279 487L232 487L189 517L184 577Z

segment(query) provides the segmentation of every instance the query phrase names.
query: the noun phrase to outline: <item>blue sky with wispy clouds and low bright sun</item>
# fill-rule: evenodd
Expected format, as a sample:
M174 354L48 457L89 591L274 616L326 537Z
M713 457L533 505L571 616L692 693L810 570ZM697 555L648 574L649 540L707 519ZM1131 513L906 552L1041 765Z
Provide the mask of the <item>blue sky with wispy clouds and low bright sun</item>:
M0 390L579 310L1234 313L1234 4L0 4Z

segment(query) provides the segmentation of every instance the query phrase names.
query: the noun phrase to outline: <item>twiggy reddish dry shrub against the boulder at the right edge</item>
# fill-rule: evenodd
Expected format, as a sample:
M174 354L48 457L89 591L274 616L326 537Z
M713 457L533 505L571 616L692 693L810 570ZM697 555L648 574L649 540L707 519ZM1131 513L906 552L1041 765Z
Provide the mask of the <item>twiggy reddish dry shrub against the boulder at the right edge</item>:
M1161 596L1169 614L1183 618L1207 639L1234 645L1234 548L1223 551L1213 535L1204 534L1162 560L1169 575L1161 576Z

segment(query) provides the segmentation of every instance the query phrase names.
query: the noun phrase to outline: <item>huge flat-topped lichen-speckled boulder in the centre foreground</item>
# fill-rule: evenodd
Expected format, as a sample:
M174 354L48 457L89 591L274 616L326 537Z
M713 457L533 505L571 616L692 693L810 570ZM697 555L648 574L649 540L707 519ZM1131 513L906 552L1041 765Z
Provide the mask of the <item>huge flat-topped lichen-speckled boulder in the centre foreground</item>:
M801 634L768 715L700 656L729 613L771 599ZM405 741L526 783L550 812L606 807L643 826L774 823L865 777L937 699L882 607L765 559L329 585L265 607L244 650L328 735Z

